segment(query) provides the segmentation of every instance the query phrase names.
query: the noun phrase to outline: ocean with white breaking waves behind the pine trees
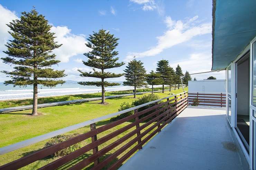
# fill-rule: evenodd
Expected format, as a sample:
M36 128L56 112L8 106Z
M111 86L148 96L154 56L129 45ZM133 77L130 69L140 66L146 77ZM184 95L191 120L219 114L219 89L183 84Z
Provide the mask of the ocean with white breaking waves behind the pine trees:
M133 89L130 86L123 86L122 82L119 82L120 86L106 87L106 91L119 91ZM96 86L82 86L76 81L66 81L62 85L57 85L54 88L44 87L38 85L38 97L49 96L62 96L67 94L83 94L83 93L95 93L101 92L101 87ZM11 84L6 86L0 82L0 100L12 100L12 99L27 99L33 98L33 86L27 87L13 87Z

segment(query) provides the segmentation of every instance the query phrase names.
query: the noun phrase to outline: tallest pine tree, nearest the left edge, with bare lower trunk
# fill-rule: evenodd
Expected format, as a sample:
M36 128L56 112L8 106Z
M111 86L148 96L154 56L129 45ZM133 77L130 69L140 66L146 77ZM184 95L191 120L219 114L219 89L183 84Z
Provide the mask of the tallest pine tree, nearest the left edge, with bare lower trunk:
M13 40L9 40L6 45L7 51L3 51L8 57L1 59L6 64L14 64L15 67L13 71L2 71L11 77L11 80L5 81L4 84L33 85L32 115L37 115L38 84L54 87L65 82L57 79L66 76L64 70L51 68L60 62L55 60L52 50L62 44L54 41L54 33L50 32L52 26L35 9L21 12L20 19L13 20L7 26L12 30L9 33Z

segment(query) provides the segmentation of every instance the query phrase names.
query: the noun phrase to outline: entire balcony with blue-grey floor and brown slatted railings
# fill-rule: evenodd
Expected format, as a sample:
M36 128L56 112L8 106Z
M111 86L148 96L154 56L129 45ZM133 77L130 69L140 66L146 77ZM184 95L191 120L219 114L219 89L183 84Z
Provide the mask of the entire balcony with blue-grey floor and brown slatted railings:
M200 93L196 98L189 95L195 94L175 94L0 148L0 154L4 154L84 126L90 125L91 129L5 164L0 170L26 168L88 139L89 144L39 168L249 169L227 122L222 100L225 94L202 94L202 99ZM188 106L189 102L197 106ZM97 122L130 111L134 111L130 116L97 127ZM122 123L125 126L120 127ZM108 133L102 136L102 132Z

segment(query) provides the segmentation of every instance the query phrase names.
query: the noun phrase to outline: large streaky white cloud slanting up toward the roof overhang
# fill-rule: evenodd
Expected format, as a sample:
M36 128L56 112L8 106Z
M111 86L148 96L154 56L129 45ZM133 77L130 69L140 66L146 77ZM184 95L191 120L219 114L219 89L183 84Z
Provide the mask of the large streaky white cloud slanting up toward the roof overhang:
M167 17L165 19L165 23L169 29L164 32L162 36L156 37L156 46L144 52L130 52L126 56L125 61L131 60L134 56L137 58L155 56L161 53L163 50L189 41L195 36L211 33L212 25L210 22L195 25L195 23L197 23L195 18L197 19L198 17L193 17L192 20L188 21L173 21L171 20L171 17Z

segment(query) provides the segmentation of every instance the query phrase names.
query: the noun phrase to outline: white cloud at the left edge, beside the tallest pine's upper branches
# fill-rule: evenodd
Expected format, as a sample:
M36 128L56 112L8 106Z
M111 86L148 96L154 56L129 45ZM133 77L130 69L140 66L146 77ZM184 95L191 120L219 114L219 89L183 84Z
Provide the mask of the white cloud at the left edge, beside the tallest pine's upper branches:
M8 33L10 31L10 28L6 25L7 23L11 22L12 20L18 19L15 12L12 12L8 10L7 8L4 8L0 4L0 50L6 49L4 44L11 38L11 35Z

